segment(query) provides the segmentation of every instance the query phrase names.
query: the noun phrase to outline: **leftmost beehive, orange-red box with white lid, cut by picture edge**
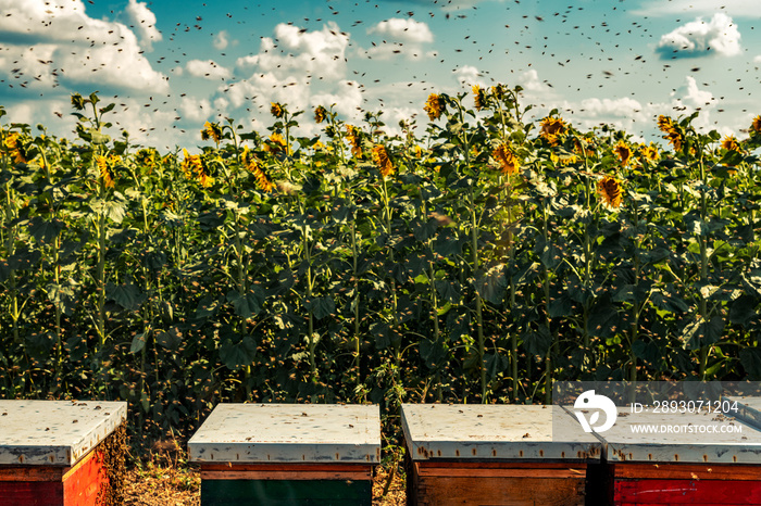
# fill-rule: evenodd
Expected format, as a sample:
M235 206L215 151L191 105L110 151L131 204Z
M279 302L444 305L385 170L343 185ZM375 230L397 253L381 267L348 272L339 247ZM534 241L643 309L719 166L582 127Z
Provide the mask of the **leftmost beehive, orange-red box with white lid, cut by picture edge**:
M110 482L102 445L126 417L124 402L0 401L0 504L103 499Z

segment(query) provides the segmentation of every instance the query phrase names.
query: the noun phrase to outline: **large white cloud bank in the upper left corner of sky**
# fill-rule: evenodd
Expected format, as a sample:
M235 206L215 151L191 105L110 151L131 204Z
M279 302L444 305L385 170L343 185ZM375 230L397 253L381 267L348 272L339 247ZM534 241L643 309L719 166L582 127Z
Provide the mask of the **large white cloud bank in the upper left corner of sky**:
M97 84L169 90L166 77L140 54L135 33L122 23L87 16L80 0L0 0L0 12L5 13L0 17L5 39L0 73L17 68L12 78L26 80L29 88Z

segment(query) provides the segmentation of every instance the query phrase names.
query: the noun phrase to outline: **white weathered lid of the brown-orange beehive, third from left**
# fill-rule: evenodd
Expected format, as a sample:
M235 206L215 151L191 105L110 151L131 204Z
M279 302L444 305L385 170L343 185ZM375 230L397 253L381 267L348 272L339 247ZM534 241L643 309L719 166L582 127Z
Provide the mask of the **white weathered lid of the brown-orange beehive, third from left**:
M600 443L560 406L403 404L413 460L599 459Z

